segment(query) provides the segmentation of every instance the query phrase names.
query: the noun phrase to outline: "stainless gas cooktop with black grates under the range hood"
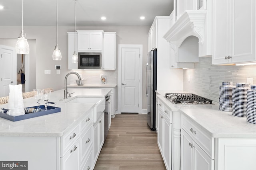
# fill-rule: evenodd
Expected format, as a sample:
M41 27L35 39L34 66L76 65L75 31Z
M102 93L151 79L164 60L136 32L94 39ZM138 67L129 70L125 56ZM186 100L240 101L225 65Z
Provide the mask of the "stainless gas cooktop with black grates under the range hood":
M165 97L173 104L212 104L212 100L192 93L166 93Z

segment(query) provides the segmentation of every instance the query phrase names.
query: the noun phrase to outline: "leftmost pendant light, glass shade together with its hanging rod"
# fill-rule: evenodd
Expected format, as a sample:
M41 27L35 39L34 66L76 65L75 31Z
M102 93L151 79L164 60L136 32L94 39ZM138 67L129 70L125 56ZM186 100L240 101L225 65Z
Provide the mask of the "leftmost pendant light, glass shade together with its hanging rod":
M26 33L23 32L23 0L22 0L22 10L21 10L21 33L20 37L18 37L18 41L15 46L17 54L28 54L29 53L29 45L26 39Z

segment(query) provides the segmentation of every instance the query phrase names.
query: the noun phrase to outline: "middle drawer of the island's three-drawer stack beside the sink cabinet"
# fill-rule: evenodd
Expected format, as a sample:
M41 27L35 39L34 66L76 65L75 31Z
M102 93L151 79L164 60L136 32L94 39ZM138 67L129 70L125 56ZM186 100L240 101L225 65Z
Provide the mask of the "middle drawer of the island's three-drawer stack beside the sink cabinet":
M84 158L88 154L88 150L92 149L92 125L89 127L88 131L84 131L81 134L81 162L84 162Z

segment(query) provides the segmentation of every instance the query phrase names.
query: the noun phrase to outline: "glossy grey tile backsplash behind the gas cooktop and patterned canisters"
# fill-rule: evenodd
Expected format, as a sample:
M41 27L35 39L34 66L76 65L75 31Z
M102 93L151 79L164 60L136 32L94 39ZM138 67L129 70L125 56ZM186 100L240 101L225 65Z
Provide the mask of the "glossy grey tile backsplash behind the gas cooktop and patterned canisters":
M236 84L253 78L253 83L256 83L256 65L212 65L212 57L200 57L199 63L195 63L193 69L184 70L183 74L184 91L204 96L214 102L219 100L219 86L223 81Z

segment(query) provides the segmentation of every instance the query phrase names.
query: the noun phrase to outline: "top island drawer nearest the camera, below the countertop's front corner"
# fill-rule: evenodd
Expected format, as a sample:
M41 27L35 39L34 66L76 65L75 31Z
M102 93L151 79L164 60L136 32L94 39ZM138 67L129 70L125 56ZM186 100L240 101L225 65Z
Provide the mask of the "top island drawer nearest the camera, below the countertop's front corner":
M69 149L71 145L75 143L75 141L80 137L79 124L76 125L71 131L66 133L63 137L61 137L61 146L64 155L66 151Z

